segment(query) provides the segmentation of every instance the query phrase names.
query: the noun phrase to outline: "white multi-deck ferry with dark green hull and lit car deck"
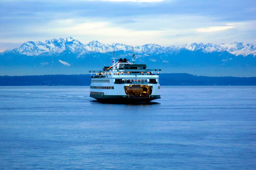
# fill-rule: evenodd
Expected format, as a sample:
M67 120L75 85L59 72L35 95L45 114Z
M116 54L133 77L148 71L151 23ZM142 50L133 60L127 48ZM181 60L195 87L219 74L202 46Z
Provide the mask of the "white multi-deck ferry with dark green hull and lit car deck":
M133 54L131 63L126 58L104 66L91 73L90 97L102 102L149 102L160 99L159 73L161 69L146 69L146 64L136 64Z

